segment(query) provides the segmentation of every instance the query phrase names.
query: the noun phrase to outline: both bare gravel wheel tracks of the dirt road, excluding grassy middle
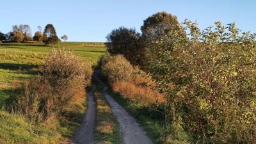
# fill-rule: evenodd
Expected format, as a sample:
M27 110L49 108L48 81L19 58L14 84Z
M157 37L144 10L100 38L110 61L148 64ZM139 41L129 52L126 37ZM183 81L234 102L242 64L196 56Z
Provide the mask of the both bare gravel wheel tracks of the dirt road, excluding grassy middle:
M83 124L74 133L72 141L74 143L81 144L94 144L93 140L93 129L95 125L95 84L101 84L104 88L102 93L108 100L113 114L116 116L119 123L120 139L124 144L151 144L152 141L145 134L140 125L136 120L125 111L122 106L120 106L112 97L108 95L106 90L108 87L100 81L98 75L100 70L95 70L93 73L93 79L96 79L99 83L93 83L93 89L88 93L88 109L86 110L86 115L84 116Z

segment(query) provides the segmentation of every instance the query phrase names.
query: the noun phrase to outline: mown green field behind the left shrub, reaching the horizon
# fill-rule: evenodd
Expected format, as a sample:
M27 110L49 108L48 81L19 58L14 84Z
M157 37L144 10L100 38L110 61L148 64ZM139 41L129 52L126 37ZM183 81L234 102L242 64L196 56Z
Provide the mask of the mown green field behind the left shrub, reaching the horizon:
M17 83L37 76L40 65L51 49L63 48L74 51L82 61L96 65L106 51L104 43L60 42L52 47L36 43L3 43L0 46L0 100L7 99L10 89Z

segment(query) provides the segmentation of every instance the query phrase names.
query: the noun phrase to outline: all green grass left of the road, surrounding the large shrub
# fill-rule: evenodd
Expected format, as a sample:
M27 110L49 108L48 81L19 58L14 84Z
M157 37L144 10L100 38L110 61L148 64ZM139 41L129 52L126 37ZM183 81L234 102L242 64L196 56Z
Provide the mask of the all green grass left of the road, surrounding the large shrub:
M35 123L22 113L6 111L6 100L10 96L19 96L15 88L31 77L38 76L40 65L47 58L51 49L63 48L74 51L81 61L88 65L97 65L104 54L104 43L60 42L45 47L35 43L3 43L0 46L0 143L61 143L66 141L77 125L82 122L86 109L86 97L76 102L78 109L73 109L74 120L59 118L47 123ZM57 122L58 120L58 122Z

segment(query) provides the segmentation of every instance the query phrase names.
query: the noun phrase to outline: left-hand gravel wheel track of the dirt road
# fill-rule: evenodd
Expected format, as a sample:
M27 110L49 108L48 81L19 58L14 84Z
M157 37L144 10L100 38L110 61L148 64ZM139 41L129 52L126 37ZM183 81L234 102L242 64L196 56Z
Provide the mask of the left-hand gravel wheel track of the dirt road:
M95 86L88 93L88 108L86 109L86 115L84 116L83 123L79 128L74 132L72 141L77 144L94 144L93 140L93 129L95 125L95 100L94 100Z

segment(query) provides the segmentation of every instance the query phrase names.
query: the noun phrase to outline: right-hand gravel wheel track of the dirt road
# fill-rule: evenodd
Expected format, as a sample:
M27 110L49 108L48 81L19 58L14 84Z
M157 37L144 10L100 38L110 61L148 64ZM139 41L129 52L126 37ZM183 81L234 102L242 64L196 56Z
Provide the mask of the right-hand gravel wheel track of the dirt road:
M98 77L99 70L95 70L95 79L103 84ZM124 144L151 144L152 141L145 134L143 129L139 126L136 120L125 111L112 97L106 92L108 88L104 86L103 93L108 100L113 114L116 116L120 126L120 137Z

